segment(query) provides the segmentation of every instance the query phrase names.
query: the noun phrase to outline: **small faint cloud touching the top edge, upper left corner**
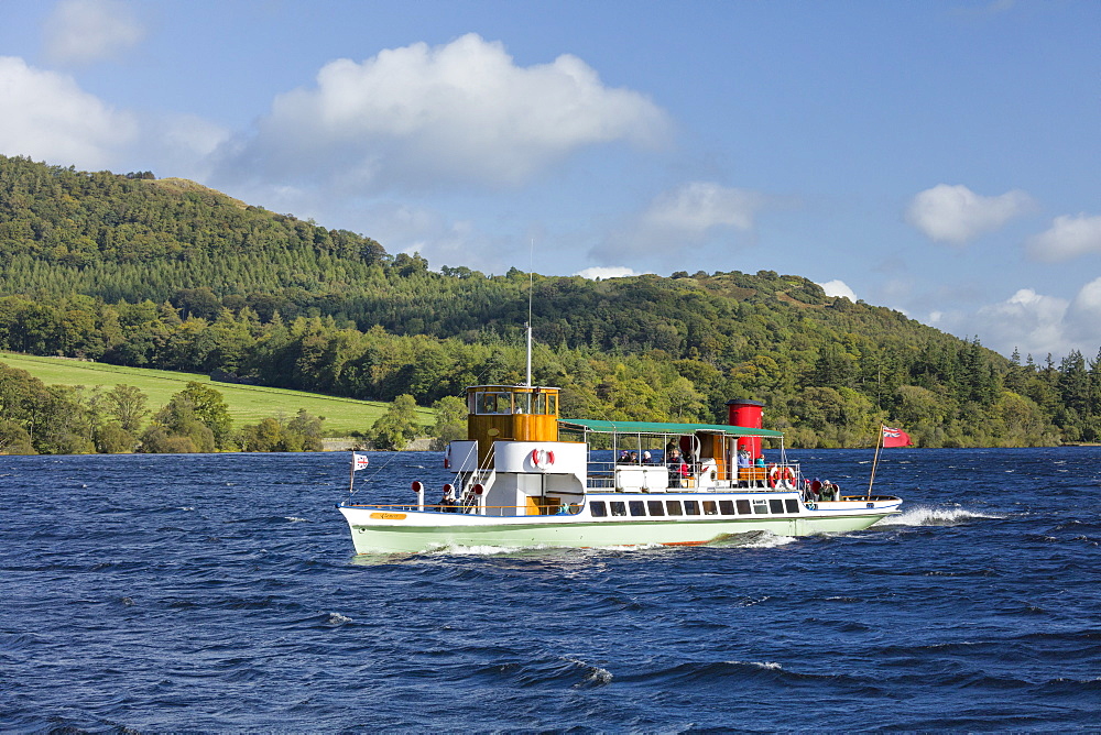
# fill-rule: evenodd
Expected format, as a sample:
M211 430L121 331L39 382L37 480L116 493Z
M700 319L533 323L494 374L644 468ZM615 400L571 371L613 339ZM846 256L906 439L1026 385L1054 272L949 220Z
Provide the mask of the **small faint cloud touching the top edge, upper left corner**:
M118 58L145 37L145 29L118 0L62 0L46 19L47 56L57 64Z

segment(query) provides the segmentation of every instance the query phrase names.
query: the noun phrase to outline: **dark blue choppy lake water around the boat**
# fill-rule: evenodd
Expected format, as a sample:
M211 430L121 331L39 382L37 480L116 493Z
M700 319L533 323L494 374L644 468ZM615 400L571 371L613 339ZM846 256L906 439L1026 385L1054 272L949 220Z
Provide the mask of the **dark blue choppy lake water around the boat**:
M1101 449L884 454L865 531L403 558L348 454L0 457L0 729L1095 729Z

